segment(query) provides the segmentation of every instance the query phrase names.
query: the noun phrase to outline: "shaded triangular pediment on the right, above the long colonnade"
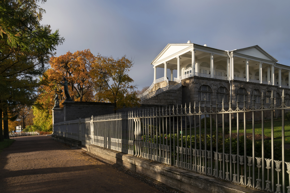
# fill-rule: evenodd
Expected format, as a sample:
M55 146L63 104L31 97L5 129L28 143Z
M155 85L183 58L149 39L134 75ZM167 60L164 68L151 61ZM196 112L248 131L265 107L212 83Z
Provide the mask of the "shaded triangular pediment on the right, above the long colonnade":
M238 50L235 50L234 52L239 53L239 54L244 54L247 56L252 56L255 58L261 58L264 60L270 60L270 61L274 61L274 62L278 61L275 58L273 58L273 56L271 56L266 51L264 51L262 48L260 48L258 45L243 48L243 49L238 49Z

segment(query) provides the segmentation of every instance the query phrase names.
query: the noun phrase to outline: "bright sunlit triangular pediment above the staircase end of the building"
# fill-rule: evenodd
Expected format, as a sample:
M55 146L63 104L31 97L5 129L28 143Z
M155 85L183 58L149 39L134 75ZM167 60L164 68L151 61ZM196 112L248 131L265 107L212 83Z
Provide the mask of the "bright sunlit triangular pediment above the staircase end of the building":
M172 57L176 57L179 53L184 50L190 49L193 47L193 44L168 44L162 52L152 61L152 64L159 63L164 59L172 59Z

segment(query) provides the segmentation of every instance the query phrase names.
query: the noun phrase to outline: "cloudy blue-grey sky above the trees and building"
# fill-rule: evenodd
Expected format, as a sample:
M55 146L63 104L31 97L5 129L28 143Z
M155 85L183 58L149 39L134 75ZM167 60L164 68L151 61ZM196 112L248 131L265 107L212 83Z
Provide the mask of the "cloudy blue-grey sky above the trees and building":
M290 66L290 1L268 0L47 0L41 21L65 38L56 56L90 49L134 59L129 72L139 90L154 78L151 62L168 43L222 50L259 45ZM169 71L167 73L170 73ZM164 69L157 69L157 78Z

